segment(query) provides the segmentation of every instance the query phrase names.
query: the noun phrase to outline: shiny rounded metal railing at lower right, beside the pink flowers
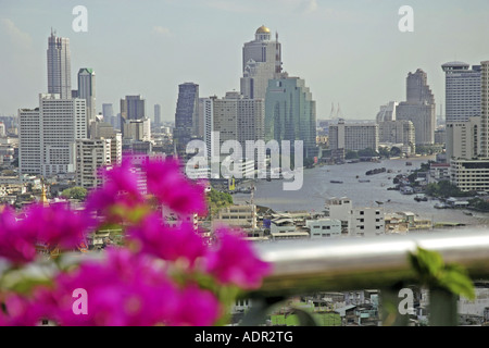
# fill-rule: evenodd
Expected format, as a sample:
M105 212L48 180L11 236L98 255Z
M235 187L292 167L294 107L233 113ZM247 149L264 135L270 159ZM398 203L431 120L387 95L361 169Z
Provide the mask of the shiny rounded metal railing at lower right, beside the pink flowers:
M252 294L258 310L288 296L314 291L380 289L381 306L396 307L399 289L416 283L409 253L417 247L438 251L446 263L464 266L472 279L489 278L489 229L464 228L450 232L384 235L327 240L287 240L256 245L260 257L274 265L261 289ZM457 296L432 290L430 325L457 325ZM261 304L260 304L261 303ZM436 304L441 303L441 304ZM392 306L390 306L392 308ZM437 308L435 308L437 307ZM397 308L397 307L396 307ZM256 310L256 309L255 309ZM256 310L256 311L258 311ZM408 315L383 312L384 325L405 325ZM246 322L244 324L252 322Z

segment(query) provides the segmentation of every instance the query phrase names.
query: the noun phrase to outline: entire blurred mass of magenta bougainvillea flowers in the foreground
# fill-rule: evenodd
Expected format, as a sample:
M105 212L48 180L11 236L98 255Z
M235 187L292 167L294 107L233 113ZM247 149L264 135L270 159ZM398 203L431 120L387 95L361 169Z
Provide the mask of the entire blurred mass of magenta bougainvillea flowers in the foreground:
M104 184L79 211L64 203L3 209L0 325L224 325L236 297L261 286L271 265L235 232L222 227L208 239L184 221L165 224L162 206L206 214L203 185L185 177L174 159L148 159L142 169L147 195L124 160L101 171ZM123 245L86 252L89 234L114 227ZM65 265L68 254L76 262ZM43 273L29 276L36 265Z

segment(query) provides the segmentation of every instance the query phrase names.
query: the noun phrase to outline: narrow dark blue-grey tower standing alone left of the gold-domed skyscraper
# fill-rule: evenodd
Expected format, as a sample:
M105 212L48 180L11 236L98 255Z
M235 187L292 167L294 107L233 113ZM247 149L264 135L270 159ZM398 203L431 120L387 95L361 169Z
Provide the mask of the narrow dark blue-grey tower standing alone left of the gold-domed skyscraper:
M174 144L178 156L185 156L187 144L197 136L199 120L199 85L178 85L178 100L175 112Z

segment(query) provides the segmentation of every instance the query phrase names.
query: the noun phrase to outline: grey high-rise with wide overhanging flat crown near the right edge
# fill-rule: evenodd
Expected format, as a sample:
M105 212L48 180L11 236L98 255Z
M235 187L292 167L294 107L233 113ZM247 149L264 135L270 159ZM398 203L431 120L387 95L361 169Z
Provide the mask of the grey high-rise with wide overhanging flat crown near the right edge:
M450 62L441 65L446 73L446 122L466 122L480 116L480 65Z

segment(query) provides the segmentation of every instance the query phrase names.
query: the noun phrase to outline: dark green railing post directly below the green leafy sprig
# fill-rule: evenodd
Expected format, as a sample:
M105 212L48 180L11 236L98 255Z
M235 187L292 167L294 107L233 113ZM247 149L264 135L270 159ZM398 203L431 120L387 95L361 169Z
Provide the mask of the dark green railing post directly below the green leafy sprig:
M430 326L457 326L459 296L443 288L429 289L429 325Z

